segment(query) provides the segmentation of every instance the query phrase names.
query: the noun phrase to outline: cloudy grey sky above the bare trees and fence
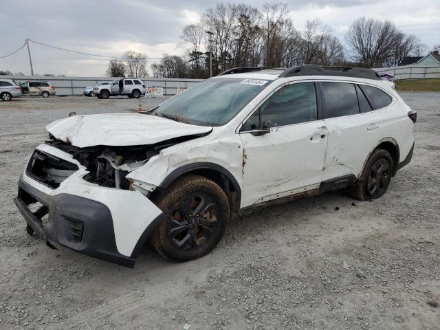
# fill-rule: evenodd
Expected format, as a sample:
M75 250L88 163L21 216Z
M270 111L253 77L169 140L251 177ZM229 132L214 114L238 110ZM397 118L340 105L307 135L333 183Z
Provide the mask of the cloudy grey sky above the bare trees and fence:
M181 29L197 23L214 0L0 0L0 56L23 45L26 38L70 50L121 56L126 50L159 58L181 54ZM220 1L221 2L221 1ZM227 1L225 1L227 2ZM241 0L261 9L264 0ZM275 1L283 2L283 1ZM344 32L360 16L390 19L404 32L416 34L430 48L440 43L439 0L287 0L295 27L318 17L343 41ZM108 60L30 44L34 72L66 76L102 76ZM155 60L151 60L151 63ZM0 58L0 70L30 74L25 48Z

